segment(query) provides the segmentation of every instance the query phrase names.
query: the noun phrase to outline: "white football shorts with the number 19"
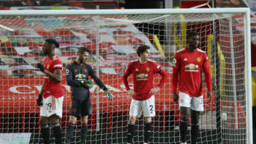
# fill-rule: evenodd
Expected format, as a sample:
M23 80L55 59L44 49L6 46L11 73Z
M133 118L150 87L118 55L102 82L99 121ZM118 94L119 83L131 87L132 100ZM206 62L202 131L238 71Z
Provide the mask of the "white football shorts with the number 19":
M63 97L58 99L54 96L48 96L46 99L43 98L43 106L40 107L40 116L52 116L56 114L59 118L62 118L63 113Z

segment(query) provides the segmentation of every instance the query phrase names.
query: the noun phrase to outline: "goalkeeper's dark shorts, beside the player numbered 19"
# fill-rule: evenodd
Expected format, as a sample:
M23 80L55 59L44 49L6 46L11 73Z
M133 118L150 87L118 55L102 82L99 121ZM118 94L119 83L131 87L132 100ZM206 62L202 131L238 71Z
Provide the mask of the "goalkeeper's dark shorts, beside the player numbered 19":
M72 106L70 108L70 116L88 116L92 114L92 104L90 97L86 100L72 100Z

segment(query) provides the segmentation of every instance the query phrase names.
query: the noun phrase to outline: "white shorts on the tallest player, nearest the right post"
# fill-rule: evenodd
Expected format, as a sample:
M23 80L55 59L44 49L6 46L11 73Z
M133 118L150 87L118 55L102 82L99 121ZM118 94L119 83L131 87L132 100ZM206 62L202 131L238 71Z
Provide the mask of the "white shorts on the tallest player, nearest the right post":
M178 106L188 107L193 111L203 111L203 95L193 97L184 92L178 92Z

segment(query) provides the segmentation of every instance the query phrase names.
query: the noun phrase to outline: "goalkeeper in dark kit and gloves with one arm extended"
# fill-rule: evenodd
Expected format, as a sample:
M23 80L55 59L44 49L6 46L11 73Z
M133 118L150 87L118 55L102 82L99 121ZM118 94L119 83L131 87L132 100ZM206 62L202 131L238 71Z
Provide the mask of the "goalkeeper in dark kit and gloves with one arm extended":
M90 50L85 47L79 48L77 59L65 70L65 77L68 85L71 86L72 90L72 106L70 108L70 118L68 121L68 131L67 136L68 140L71 141L74 135L74 126L77 121L77 117L81 117L81 133L80 138L83 143L85 143L85 137L87 133L87 121L88 115L92 113L92 105L90 102L90 91L94 84L100 86L110 101L112 101L112 93L107 89L105 84L97 77L90 65L87 65L85 62L87 57L89 57ZM92 78L88 80L88 77Z

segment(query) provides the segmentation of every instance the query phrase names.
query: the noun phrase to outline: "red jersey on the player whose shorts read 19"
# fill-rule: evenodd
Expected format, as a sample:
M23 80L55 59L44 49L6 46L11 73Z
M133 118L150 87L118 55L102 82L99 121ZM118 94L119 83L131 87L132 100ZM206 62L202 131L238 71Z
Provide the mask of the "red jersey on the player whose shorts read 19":
M55 70L62 70L63 65L60 60L60 57L53 55L53 57L46 57L46 60L43 62L44 67L51 73L54 73ZM55 98L63 96L64 91L60 82L55 82L50 77L45 77L45 85L43 87L43 97L47 98L50 95L53 95Z

